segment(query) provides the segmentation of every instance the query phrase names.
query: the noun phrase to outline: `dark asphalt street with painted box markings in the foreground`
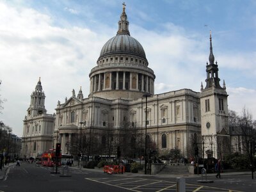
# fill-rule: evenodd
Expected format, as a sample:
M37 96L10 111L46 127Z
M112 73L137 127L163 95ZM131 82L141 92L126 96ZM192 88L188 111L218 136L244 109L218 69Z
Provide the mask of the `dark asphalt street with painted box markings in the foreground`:
M55 170L54 170L55 171ZM10 168L8 177L0 181L0 192L9 191L176 191L175 176L138 175L108 175L84 169L70 168L67 175L60 177L54 174L52 168L22 163L21 166ZM254 191L256 180L251 175L222 175L222 179L209 177L213 183L198 183L201 178L185 177L186 191Z

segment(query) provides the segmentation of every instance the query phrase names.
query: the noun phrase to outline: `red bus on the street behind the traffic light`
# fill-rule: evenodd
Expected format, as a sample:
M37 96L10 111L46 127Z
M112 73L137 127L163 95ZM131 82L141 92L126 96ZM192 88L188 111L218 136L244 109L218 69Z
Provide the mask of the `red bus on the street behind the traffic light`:
M42 154L42 165L43 166L54 166L56 164L56 151L55 149L49 149L48 151L44 152ZM61 159L61 153L60 156L58 156L58 164L60 166L60 159Z

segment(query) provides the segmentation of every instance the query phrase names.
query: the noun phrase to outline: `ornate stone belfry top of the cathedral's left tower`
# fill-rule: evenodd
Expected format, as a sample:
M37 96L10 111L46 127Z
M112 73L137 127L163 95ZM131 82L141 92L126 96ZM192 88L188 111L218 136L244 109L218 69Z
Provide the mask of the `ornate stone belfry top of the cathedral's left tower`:
M35 91L31 94L30 106L28 108L28 116L38 116L46 114L45 94L43 92L41 80L39 77L38 83L36 84Z

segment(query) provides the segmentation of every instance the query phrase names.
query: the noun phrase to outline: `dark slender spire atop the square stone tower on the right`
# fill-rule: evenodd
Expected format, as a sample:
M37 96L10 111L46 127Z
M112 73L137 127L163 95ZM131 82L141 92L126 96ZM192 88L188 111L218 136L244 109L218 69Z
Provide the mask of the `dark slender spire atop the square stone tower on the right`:
M210 54L209 54L209 63L206 65L207 79L205 79L207 88L221 88L220 78L218 77L218 65L217 61L214 64L214 55L212 53L212 33L210 31Z

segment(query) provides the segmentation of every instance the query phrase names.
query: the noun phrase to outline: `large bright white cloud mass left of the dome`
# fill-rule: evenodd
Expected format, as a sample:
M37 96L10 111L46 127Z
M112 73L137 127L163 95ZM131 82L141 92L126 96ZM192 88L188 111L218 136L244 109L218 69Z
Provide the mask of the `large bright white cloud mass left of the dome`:
M22 120L38 77L45 91L45 107L54 113L58 100L82 86L88 95L89 77L107 37L90 29L57 28L51 17L29 8L0 3L1 119L22 135ZM12 114L12 115L11 115Z

